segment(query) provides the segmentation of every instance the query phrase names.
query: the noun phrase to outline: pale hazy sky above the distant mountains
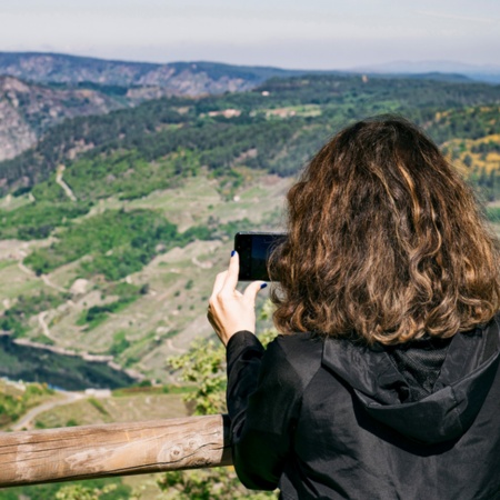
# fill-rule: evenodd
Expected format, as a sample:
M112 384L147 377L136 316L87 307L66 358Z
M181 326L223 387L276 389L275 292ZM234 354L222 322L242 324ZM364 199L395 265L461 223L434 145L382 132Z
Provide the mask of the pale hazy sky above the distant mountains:
M500 0L0 0L0 51L290 69L500 66Z

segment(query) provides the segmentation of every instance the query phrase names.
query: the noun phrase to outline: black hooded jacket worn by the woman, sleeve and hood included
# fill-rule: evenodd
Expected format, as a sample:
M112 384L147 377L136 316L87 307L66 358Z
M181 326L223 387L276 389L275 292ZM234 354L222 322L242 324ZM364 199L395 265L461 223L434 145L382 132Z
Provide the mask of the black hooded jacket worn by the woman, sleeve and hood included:
M240 480L284 499L500 499L499 323L396 350L299 333L264 351L238 332L227 359Z

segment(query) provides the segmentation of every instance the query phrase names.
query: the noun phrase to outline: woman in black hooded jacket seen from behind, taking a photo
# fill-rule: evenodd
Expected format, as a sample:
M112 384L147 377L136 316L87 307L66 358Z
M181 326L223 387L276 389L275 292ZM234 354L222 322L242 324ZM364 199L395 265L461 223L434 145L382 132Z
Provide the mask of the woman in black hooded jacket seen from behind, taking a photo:
M227 346L233 461L284 499L500 498L499 250L438 148L356 123L288 193L263 350L238 254L209 320ZM497 314L497 316L496 316Z

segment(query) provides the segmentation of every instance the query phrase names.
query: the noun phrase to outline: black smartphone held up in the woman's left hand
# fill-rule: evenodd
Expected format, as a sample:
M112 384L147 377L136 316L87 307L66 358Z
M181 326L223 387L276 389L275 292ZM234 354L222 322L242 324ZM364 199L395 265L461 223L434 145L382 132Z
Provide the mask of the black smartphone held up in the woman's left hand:
M284 232L238 232L234 236L234 250L240 256L238 279L240 281L270 281L269 256L286 238Z

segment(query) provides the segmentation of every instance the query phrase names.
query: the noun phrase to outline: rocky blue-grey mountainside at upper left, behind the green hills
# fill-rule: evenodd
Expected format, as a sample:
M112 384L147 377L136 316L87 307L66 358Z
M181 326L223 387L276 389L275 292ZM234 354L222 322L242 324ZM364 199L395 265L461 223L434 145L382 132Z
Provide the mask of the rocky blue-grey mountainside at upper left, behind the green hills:
M0 52L0 161L33 146L67 118L104 114L162 97L244 91L271 77L301 73L216 62L154 64Z

